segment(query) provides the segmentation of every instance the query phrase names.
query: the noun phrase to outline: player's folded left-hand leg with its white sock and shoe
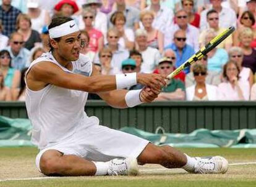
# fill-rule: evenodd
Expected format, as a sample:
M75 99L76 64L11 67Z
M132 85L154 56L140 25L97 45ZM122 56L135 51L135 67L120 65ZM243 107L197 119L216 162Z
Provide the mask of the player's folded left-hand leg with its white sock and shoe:
M67 149L66 149L67 150ZM82 157L63 154L56 149L42 151L36 156L36 167L49 176L80 175L137 175L137 159L112 159L108 162L92 162Z

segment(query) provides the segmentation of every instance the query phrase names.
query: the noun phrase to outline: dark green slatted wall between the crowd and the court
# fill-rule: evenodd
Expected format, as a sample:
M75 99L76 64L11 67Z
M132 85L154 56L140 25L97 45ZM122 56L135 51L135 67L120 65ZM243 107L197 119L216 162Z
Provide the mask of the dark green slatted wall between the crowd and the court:
M195 129L255 129L256 102L252 101L169 101L115 109L103 101L88 101L88 116L99 117L101 124L113 129L129 126L155 132L189 133ZM27 118L25 103L0 102L0 115Z

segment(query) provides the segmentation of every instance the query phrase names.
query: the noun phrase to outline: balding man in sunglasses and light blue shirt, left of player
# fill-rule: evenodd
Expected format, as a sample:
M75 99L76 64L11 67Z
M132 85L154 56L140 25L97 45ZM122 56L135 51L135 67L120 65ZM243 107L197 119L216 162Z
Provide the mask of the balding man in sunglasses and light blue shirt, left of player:
M12 68L20 71L30 65L30 51L23 47L23 44L22 34L15 32L11 34L9 46L6 47L12 58Z

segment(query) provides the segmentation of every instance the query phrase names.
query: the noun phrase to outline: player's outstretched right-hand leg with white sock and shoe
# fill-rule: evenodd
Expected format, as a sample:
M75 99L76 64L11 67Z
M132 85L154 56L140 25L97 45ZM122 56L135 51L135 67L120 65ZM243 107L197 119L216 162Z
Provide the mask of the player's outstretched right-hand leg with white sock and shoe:
M149 143L137 157L141 164L161 164L167 168L181 167L192 173L226 173L228 161L221 156L190 157L171 146Z

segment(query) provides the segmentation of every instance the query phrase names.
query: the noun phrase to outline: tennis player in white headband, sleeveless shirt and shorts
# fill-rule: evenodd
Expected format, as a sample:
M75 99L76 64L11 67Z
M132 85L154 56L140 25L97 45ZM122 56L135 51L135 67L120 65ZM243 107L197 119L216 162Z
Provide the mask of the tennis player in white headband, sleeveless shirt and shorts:
M99 125L84 111L88 92L109 105L127 108L153 101L166 85L158 74L98 75L80 54L80 31L74 20L53 18L51 50L28 68L26 107L33 125L32 142L40 149L36 167L45 175L137 175L139 164L161 164L192 173L225 173L220 156L190 157L171 146L155 146L134 135ZM84 42L84 41L83 41ZM82 44L83 44L82 42ZM142 90L123 90L134 84Z

